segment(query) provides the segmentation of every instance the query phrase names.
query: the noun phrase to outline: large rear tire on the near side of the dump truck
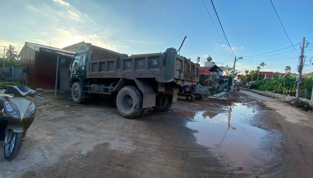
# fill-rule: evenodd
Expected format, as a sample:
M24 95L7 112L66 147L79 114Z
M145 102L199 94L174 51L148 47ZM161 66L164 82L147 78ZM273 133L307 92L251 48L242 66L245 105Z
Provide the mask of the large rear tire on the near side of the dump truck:
M116 106L124 118L138 117L142 112L142 95L139 89L134 86L123 87L117 94Z

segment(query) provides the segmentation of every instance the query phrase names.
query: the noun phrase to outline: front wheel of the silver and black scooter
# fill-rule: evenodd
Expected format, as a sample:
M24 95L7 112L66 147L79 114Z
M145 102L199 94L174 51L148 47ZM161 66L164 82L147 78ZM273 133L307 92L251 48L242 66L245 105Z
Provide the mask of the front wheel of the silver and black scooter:
M9 129L5 132L5 138L7 139L4 143L4 158L11 161L18 156L22 147L23 133L16 133Z

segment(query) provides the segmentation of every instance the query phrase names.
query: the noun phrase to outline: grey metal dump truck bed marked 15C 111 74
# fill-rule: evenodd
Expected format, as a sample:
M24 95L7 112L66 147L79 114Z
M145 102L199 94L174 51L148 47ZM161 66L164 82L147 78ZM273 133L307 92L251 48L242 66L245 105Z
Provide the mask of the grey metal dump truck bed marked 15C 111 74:
M200 65L178 55L174 48L163 53L113 59L97 54L100 53L93 53L92 61L87 62L86 78L155 78L158 82L184 85L199 82Z

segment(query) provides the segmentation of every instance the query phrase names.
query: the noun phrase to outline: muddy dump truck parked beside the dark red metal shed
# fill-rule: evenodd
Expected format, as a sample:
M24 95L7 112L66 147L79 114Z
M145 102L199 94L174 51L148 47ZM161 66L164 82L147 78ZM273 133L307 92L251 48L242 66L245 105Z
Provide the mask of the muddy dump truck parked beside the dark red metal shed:
M131 119L151 107L170 108L181 84L198 84L199 66L178 55L175 48L128 56L87 43L85 50L74 55L69 85L75 103L106 96L116 102L121 116Z

